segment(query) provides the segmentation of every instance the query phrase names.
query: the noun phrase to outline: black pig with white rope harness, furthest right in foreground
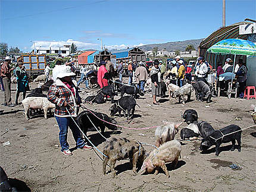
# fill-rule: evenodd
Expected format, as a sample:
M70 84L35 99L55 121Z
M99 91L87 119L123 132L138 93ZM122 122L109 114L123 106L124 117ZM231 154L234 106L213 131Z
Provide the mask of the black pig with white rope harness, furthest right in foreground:
M235 143L238 141L238 151L241 152L241 133L242 129L238 125L229 125L216 130L202 139L200 150L205 151L215 144L215 155L220 154L220 144L232 142L231 150L235 150Z

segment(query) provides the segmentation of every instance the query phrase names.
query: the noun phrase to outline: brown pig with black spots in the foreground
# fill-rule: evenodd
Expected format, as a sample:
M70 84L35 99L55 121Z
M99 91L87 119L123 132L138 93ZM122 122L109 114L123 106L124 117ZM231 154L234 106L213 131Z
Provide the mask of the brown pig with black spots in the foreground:
M110 170L113 172L115 177L114 166L117 160L129 158L133 165L133 172L136 173L136 163L138 160L141 163L144 160L145 149L140 143L135 140L128 140L126 138L113 138L105 142L105 147L103 150L103 174L106 174L106 165L110 161Z

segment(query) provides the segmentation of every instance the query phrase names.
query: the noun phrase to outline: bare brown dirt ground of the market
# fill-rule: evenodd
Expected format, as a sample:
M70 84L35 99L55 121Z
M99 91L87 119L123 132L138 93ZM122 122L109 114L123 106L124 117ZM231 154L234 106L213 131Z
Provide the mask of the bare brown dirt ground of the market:
M32 88L36 83L30 84ZM15 96L15 84L12 85L12 97ZM94 92L95 90L93 90ZM88 90L92 94L91 90ZM80 94L83 98L85 92ZM21 96L20 96L21 97ZM21 98L20 98L21 99ZM115 96L118 99L118 96ZM21 101L21 100L20 100ZM0 93L0 103L4 102L4 92ZM141 108L136 107L135 118L127 124L124 117L115 117L119 125L132 128L161 125L163 121L181 122L181 114L186 109L195 109L199 120L208 121L215 129L236 124L241 128L254 122L251 118L251 104L255 100L213 98L213 102L199 102L192 94L192 101L183 104L170 102L168 98L160 100L161 105L152 106L151 93L137 99ZM86 105L88 108L108 114L110 101L101 105ZM82 111L82 109L80 109ZM24 181L32 191L255 191L256 189L256 139L250 133L256 128L242 132L242 150L230 151L231 143L221 144L222 152L217 157L214 146L207 153L199 150L200 140L182 141L181 159L176 169L167 164L170 178L163 171L153 174L133 175L128 160L115 164L117 177L102 175L102 161L93 150L73 150L72 156L60 152L58 126L54 117L44 119L43 115L27 121L23 107L8 108L0 106L0 165L8 177L15 181ZM181 128L185 127L183 123ZM155 128L149 130L122 129L113 134L106 130L105 136L126 137L154 144ZM88 136L102 150L104 139L94 132ZM180 139L180 133L175 137ZM10 141L10 145L3 143ZM68 143L75 147L71 133ZM151 151L152 147L145 147ZM102 155L100 155L102 156ZM229 167L235 163L238 170ZM107 169L109 169L107 167Z

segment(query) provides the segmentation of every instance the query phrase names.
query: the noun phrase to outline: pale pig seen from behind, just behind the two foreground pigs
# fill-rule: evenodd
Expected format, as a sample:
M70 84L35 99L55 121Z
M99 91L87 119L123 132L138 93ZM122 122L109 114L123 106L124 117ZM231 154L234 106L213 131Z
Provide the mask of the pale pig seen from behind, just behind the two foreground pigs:
M174 140L175 135L178 133L178 128L182 124L173 124L166 122L164 125L160 125L155 130L155 146L159 147L161 144L167 141Z

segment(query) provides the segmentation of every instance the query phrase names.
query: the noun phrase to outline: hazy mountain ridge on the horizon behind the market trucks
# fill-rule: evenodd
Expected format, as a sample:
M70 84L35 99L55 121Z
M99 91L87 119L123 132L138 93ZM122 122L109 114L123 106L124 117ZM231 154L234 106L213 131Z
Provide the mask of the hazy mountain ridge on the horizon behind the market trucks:
M143 51L151 51L153 48L157 47L158 50L166 49L167 51L185 51L186 46L193 45L193 47L197 50L199 44L203 39L192 39L192 40L184 40L183 42L168 42L168 43L158 43L158 44L149 44L140 46Z

